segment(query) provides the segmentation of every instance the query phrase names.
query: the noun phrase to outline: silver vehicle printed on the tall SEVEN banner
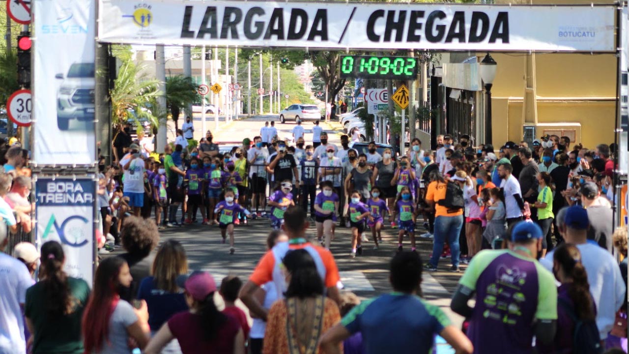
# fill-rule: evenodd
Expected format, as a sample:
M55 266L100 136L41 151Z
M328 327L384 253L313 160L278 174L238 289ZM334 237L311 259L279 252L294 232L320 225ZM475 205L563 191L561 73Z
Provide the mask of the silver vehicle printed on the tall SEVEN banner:
M74 63L67 74L59 73L63 80L57 93L57 127L68 130L70 120L94 120L94 63Z

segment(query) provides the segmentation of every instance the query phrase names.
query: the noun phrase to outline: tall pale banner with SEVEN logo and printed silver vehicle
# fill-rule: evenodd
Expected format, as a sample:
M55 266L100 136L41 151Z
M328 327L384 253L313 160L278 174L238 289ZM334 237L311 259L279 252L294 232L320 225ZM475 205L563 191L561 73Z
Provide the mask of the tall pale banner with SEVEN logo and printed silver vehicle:
M33 158L96 161L94 0L33 0Z

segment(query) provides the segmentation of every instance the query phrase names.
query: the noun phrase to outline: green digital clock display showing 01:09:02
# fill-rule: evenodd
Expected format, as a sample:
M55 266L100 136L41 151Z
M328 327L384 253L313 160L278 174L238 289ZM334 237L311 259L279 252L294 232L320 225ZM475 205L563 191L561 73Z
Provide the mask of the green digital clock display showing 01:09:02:
M409 57L373 57L342 55L342 77L411 80L417 77L417 59Z

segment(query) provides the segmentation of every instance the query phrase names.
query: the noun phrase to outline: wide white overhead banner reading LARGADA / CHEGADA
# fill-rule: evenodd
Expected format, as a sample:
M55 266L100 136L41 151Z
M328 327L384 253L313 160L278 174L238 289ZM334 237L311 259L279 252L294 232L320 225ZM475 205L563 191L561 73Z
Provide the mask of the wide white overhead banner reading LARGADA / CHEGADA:
M99 0L98 40L330 49L615 52L615 6Z

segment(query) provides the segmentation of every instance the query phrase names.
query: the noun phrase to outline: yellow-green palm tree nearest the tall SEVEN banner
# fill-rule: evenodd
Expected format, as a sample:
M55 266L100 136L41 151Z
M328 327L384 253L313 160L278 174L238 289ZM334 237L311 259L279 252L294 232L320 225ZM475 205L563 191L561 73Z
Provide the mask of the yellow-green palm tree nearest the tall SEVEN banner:
M126 60L120 66L114 88L109 91L111 98L111 123L121 128L121 123L129 118L136 121L146 118L151 127L157 127L159 117L155 99L159 96L158 82L150 79L141 66ZM150 108L150 109L149 109ZM131 113L133 112L133 113ZM139 122L137 122L139 124Z

